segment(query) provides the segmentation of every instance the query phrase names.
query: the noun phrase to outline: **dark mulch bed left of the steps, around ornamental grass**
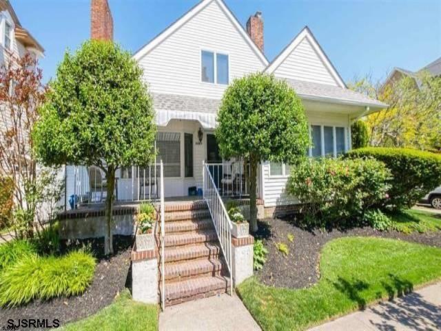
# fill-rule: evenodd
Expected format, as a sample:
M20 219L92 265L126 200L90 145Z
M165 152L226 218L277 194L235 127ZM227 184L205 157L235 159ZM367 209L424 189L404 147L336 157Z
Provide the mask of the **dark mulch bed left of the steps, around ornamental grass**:
M32 301L17 308L0 308L0 329L8 319L59 319L61 325L88 317L110 305L119 292L126 287L130 269L132 237L114 236L114 255L103 257L104 239L88 239L64 243L62 250L85 244L97 259L92 284L81 296L62 297L50 301Z

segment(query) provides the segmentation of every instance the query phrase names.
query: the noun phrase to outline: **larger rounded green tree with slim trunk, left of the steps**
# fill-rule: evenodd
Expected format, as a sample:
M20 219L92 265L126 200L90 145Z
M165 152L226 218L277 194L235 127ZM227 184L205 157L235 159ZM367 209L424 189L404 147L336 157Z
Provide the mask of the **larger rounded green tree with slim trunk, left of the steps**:
M116 169L147 165L154 155L154 110L141 76L130 54L111 41L83 43L65 54L33 132L43 163L96 165L105 173L106 254L113 252Z

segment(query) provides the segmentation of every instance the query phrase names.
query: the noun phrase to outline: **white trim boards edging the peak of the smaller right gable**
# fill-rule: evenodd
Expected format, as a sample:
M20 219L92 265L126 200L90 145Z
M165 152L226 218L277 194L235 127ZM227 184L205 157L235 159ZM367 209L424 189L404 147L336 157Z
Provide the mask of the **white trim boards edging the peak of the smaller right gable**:
M296 37L294 37L294 39L282 50L282 52L280 52L278 56L273 61L271 61L271 63L269 63L267 68L265 68L265 72L274 72L278 68L278 66L280 66L280 64L285 61L289 54L291 54L291 52L298 46L298 44L305 38L307 38L309 43L311 43L311 46L317 52L323 64L325 65L327 70L329 70L338 85L341 88L347 88L345 81L343 81L342 77L340 76L334 65L331 63L331 60L329 60L326 53L323 51L322 47L318 43L316 37L314 37L314 34L312 34L311 30L309 30L307 26L305 26L305 28L303 28L296 35Z

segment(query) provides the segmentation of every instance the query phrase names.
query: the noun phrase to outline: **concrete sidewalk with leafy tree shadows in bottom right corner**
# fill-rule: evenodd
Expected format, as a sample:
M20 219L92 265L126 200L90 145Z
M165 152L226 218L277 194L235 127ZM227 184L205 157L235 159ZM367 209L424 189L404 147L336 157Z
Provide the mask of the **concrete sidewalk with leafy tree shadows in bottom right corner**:
M354 312L311 330L441 330L441 283L394 301L374 305L362 312Z

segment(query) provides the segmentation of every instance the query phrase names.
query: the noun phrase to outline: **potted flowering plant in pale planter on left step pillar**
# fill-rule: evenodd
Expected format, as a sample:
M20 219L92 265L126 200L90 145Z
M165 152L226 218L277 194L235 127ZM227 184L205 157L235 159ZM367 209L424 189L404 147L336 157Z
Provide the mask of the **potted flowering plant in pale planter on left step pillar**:
M155 209L151 203L141 203L139 213L136 215L136 250L153 250L155 222Z

